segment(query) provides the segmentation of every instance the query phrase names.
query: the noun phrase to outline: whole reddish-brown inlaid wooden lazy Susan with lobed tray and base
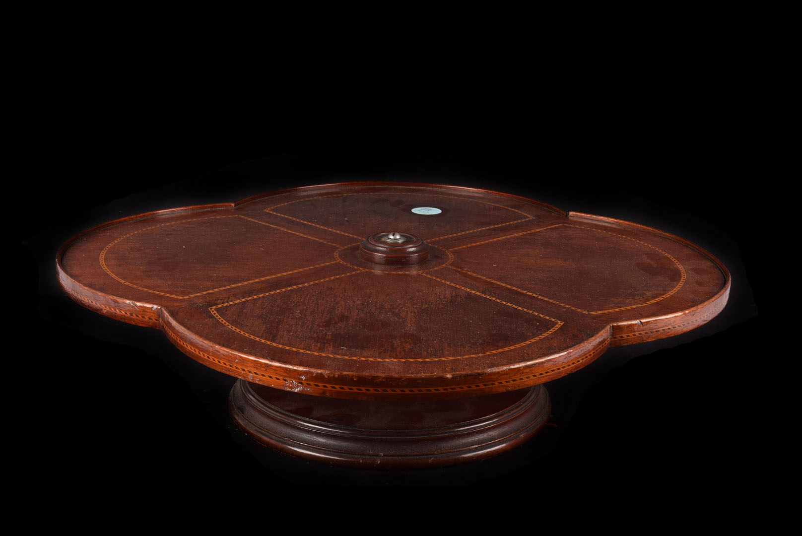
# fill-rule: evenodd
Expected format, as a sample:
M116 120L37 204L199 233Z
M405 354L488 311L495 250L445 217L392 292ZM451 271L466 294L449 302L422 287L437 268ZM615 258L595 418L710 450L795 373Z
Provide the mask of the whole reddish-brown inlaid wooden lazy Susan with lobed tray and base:
M239 379L257 441L355 467L477 460L548 419L542 384L727 303L727 269L656 229L413 183L284 189L88 229L59 282Z

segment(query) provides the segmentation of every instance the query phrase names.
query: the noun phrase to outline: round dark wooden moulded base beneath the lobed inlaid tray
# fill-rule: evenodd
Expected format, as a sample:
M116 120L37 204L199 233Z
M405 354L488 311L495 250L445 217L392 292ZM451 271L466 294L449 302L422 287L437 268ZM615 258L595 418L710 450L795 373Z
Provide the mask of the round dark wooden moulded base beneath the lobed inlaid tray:
M520 445L549 417L541 385L452 400L377 402L301 395L238 380L237 423L257 441L336 465L419 469L491 457Z

